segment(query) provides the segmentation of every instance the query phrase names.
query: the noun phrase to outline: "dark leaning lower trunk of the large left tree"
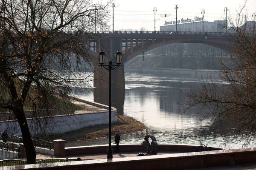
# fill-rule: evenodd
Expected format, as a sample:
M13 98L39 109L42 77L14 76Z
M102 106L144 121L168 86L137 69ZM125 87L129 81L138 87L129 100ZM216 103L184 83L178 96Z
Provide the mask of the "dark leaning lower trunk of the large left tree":
M20 104L20 107L15 107L13 112L20 125L20 130L23 137L23 144L26 150L26 163L35 164L35 147L31 139L29 126L27 124L26 116L23 110L23 105Z

